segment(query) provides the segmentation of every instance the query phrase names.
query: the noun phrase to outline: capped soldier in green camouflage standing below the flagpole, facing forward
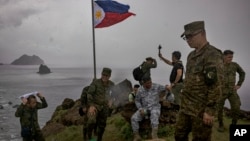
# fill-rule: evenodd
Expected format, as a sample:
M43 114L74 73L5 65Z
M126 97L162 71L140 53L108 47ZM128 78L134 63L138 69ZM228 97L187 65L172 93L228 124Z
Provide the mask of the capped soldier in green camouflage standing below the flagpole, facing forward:
M114 86L114 83L109 80L111 76L110 68L103 68L102 76L100 79L94 80L87 94L88 100L88 122L87 130L88 135L91 136L92 130L97 124L97 141L102 140L103 133L106 127L106 121L109 116L109 109L112 105L111 99L111 88ZM89 136L89 139L91 137Z

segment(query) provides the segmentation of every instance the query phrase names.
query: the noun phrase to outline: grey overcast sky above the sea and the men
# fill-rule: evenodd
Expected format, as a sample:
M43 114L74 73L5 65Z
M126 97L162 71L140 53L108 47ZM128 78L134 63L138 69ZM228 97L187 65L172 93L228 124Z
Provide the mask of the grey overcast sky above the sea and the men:
M192 50L180 38L183 26L204 20L208 41L249 61L249 0L117 0L136 14L114 26L95 29L97 67L133 67L157 47L170 58ZM93 66L91 0L0 0L0 62L23 54L48 65ZM248 67L248 66L246 66Z

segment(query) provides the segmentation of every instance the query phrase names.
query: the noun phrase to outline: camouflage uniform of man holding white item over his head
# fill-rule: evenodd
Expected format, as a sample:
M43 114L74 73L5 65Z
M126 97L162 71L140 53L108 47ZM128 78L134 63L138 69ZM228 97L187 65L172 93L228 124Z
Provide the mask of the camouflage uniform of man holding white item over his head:
M37 110L48 106L45 98L41 98L41 102L37 102L35 108L30 108L27 105L21 104L15 113L16 117L20 117L21 128L31 129L31 136L23 137L23 141L45 141L42 131L38 124Z

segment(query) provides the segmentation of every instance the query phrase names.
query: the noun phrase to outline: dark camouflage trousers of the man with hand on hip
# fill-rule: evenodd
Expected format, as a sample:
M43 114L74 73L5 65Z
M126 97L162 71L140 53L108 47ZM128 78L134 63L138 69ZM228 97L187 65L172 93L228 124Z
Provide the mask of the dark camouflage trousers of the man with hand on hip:
M240 102L239 95L236 93L236 91L234 91L228 94L223 94L218 101L219 124L223 124L223 108L224 108L226 99L228 99L230 106L231 106L232 121L237 121L239 119L241 102Z

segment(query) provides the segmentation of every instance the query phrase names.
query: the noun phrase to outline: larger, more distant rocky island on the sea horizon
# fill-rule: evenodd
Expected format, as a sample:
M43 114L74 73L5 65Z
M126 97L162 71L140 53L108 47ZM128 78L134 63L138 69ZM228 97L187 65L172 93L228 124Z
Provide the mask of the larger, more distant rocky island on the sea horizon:
M26 54L22 55L20 58L14 60L11 65L40 65L44 64L44 61L36 56L28 56Z

